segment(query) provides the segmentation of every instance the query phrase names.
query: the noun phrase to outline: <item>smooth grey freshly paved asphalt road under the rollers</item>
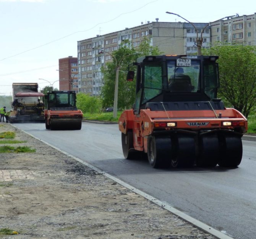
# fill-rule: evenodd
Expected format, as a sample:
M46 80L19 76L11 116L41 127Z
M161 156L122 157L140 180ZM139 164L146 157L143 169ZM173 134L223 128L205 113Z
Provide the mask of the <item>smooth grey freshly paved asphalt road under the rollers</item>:
M231 237L256 238L254 141L243 140L243 159L235 169L153 169L146 160L123 158L117 124L83 122L79 131L14 125Z

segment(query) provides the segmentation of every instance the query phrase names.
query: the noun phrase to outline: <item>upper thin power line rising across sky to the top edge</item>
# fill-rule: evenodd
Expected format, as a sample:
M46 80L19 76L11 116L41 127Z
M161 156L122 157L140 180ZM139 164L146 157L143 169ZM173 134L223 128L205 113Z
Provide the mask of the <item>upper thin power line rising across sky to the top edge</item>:
M64 37L61 37L61 38L58 38L58 39L56 39L56 40L50 41L50 42L45 43L45 44L43 44L43 45L36 46L36 47L34 47L34 48L28 49L28 50L23 51L23 52L21 52L21 53L17 53L17 54L15 54L15 55L5 57L5 58L3 58L3 59L0 59L0 61L9 59L9 58L14 57L14 56L21 55L21 54L23 54L23 53L26 53L26 52L28 52L28 51L32 51L32 50L37 49L37 48L40 48L40 47L42 47L42 46L46 46L46 45L48 45L48 44L50 44L50 43L53 43L53 42L55 42L55 41L62 40L63 38L69 37L69 36L74 35L74 34L79 33L79 32L87 32L87 31L92 30L92 29L94 29L95 27L97 27L97 25L105 24L105 23L111 22L111 21L113 21L113 20L119 18L119 17L122 16L122 15L129 14L129 13L133 13L133 12L135 12L135 11L140 10L141 8L144 8L145 6L147 6L147 5L151 4L151 3L158 2L158 1L159 1L159 0L154 0L154 1L152 1L152 2L146 3L145 5L141 6L140 8L137 8L137 9L135 9L135 10L133 10L133 11L130 11L130 12L127 12L127 13L122 13L122 14L118 15L117 17L115 17L115 18L113 18L113 19L110 19L109 21L100 22L100 23L94 25L94 27L91 27L90 29L83 30L83 31L73 32L73 33L71 33L71 34L68 34L68 35L66 35L66 36L64 36Z

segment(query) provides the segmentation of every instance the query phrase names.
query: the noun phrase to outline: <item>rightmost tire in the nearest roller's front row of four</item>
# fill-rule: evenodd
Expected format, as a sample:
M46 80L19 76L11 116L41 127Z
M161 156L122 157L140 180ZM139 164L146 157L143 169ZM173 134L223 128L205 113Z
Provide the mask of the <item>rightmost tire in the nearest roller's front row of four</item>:
M242 139L237 135L220 135L220 159L221 167L237 167L242 160Z

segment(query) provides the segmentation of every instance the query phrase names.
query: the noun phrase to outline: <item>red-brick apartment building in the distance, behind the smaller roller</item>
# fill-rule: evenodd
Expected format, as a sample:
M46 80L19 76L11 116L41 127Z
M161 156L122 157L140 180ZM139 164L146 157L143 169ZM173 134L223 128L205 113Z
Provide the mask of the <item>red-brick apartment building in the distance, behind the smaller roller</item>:
M59 89L60 91L78 92L78 62L77 57L69 56L59 59Z

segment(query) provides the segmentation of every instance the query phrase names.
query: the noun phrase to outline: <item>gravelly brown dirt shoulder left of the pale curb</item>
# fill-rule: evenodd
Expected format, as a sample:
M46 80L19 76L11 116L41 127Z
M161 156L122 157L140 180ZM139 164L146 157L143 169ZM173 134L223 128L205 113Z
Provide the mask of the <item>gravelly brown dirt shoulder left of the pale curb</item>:
M36 153L0 153L0 238L215 238L11 124L11 146ZM3 139L0 139L3 140ZM0 144L3 146L3 144Z

